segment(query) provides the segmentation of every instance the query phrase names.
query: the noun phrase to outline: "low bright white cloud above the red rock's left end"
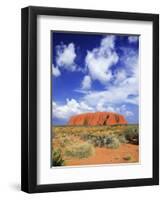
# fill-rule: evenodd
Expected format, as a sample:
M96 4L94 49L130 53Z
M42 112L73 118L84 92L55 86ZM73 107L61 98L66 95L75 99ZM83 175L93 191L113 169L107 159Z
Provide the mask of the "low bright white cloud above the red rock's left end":
M66 99L66 104L59 105L53 101L53 117L59 119L69 119L71 116L85 113L93 112L93 108L88 106L85 102L78 102L75 99Z

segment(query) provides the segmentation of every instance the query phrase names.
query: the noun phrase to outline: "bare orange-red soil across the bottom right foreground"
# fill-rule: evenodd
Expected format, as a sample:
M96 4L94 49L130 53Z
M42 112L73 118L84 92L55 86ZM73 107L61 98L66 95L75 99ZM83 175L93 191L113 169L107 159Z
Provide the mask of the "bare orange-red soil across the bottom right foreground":
M139 161L139 145L122 144L118 149L95 148L95 154L88 158L66 160L67 166L97 165L113 163L134 163Z

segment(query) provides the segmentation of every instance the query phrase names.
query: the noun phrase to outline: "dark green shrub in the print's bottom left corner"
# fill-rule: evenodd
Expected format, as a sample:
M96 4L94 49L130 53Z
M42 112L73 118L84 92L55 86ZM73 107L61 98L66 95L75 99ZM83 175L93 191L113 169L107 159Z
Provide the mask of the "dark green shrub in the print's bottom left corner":
M64 160L62 159L61 150L54 149L52 153L52 165L53 166L63 166Z

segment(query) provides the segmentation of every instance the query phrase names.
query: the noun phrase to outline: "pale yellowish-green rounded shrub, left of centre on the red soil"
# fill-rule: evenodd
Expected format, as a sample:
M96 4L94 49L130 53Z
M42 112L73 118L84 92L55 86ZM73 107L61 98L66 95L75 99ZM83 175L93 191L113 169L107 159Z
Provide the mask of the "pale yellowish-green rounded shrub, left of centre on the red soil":
M85 142L81 144L74 144L65 150L65 156L75 158L87 158L94 154L94 147Z

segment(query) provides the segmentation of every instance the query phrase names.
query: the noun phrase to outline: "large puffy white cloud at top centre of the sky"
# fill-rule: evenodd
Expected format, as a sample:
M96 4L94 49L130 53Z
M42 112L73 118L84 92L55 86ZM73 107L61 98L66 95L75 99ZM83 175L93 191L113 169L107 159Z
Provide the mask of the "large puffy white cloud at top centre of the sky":
M118 62L118 55L114 50L115 36L109 35L101 40L99 48L87 52L85 63L93 80L102 84L112 78L110 67Z

